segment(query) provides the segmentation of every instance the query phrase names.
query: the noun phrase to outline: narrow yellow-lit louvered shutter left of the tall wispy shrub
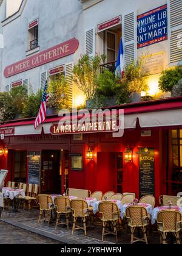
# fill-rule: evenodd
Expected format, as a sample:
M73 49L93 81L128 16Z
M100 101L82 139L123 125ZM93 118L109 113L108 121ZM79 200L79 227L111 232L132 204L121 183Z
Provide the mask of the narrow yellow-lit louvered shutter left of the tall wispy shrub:
M72 80L73 63L69 63L65 68L66 81L69 84L67 90L67 98L69 100L69 107L73 107L73 80Z

